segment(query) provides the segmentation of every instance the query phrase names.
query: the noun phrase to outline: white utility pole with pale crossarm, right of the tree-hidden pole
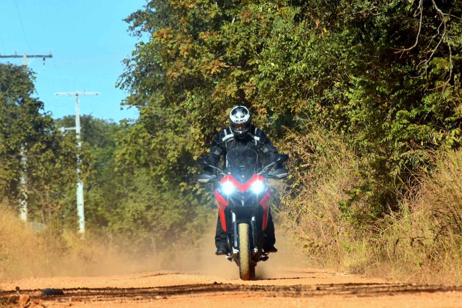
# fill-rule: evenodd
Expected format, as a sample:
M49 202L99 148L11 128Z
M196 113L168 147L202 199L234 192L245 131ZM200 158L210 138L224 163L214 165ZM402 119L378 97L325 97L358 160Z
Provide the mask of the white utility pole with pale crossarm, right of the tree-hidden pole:
M82 236L85 236L85 212L84 212L84 184L80 180L79 174L80 169L79 165L82 163L82 158L80 157L80 150L82 147L82 142L80 141L80 109L79 109L79 96L80 95L99 95L98 92L86 92L85 89L83 92L67 92L67 93L55 93L55 95L75 95L75 127L62 127L61 130L65 129L75 129L76 138L77 138L77 215L79 216L79 232Z

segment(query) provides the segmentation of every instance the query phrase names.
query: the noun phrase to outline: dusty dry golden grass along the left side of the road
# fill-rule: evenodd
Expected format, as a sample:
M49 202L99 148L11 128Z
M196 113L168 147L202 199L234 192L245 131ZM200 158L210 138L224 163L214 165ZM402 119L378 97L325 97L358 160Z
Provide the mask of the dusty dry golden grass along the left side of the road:
M30 277L98 276L154 270L150 255L82 241L77 235L36 233L0 207L0 282Z

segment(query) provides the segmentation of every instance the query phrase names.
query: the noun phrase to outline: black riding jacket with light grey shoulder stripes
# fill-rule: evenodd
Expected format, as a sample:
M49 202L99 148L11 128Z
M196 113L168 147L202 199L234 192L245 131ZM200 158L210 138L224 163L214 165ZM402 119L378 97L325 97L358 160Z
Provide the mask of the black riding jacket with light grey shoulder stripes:
M207 154L207 158L217 167L220 157L222 155L226 157L228 151L237 147L247 147L257 152L260 167L260 153L263 153L270 163L274 161L274 157L278 154L278 150L276 150L271 140L268 139L266 133L252 125L249 134L243 139L234 137L230 127L219 131L213 139L212 145L210 145L210 152ZM211 167L206 167L204 170L213 172L213 168Z

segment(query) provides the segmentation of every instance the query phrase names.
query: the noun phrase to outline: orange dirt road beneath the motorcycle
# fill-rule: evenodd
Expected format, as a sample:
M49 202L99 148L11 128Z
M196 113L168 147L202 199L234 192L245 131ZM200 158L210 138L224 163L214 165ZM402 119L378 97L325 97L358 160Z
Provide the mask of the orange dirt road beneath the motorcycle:
M308 268L257 272L259 280L244 282L236 277L237 266L232 268L234 274L158 271L109 277L30 278L1 287L7 307L21 307L20 295L30 296L27 305L31 308L462 307L462 287L396 284ZM45 288L61 289L64 295L41 296Z

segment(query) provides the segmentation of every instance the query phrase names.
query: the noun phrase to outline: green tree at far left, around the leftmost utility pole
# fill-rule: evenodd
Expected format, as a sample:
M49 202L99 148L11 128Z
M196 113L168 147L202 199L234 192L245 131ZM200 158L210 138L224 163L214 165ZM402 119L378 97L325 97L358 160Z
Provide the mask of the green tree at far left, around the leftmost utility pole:
M51 229L76 226L76 140L55 129L32 97L34 76L23 66L0 64L0 195L18 207L20 178L26 179L29 217ZM26 158L21 163L21 158ZM85 175L85 165L81 166Z

